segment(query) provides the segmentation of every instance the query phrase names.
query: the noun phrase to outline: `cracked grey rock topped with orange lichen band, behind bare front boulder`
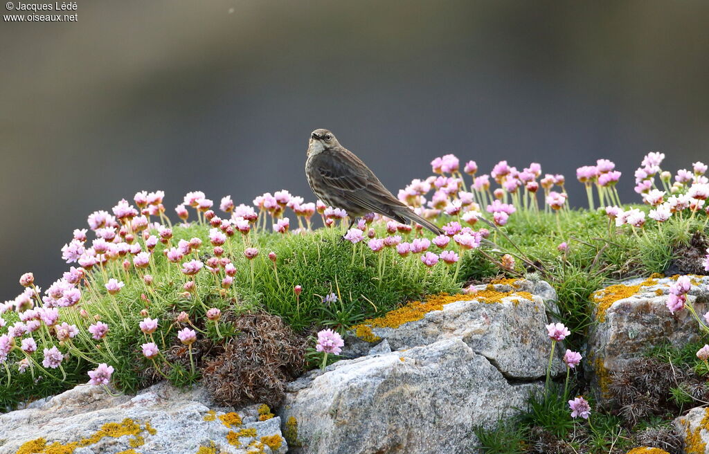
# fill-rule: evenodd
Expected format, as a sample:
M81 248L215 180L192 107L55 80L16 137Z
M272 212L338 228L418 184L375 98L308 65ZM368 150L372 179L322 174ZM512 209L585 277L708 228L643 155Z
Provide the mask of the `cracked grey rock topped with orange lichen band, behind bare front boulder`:
M462 339L493 363L507 378L534 380L547 370L551 341L545 325L547 307L555 310L557 295L544 281L504 280L477 285L473 295L438 295L413 302L355 327L343 355L368 354L384 339L391 350ZM562 348L557 350L563 353ZM555 373L562 373L560 358Z

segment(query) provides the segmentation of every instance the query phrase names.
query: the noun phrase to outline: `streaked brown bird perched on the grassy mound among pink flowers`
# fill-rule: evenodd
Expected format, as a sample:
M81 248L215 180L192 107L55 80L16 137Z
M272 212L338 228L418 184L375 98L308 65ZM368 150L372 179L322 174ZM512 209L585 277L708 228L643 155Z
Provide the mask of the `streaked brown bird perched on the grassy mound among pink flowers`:
M314 130L307 155L308 184L324 203L347 211L352 217L348 229L357 217L377 212L401 223L418 222L435 234L443 233L394 197L362 159L337 142L332 132Z

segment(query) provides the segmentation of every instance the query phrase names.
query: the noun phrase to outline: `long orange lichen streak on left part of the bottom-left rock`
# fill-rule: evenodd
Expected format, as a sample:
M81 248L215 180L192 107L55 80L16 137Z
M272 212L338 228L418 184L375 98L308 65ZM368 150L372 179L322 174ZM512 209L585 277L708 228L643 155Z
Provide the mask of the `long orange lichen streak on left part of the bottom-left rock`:
M149 423L146 423L146 429L148 426ZM155 431L155 429L152 430ZM130 439L130 446L138 447L145 443L145 439L140 436L142 431L143 429L140 428L140 424L133 421L133 419L126 418L123 419L121 423L104 424L99 431L96 431L96 433L88 438L83 438L81 441L72 441L71 443L65 444L55 442L48 445L44 438L37 438L23 443L16 451L16 454L72 454L77 448L84 448L99 443L101 438L120 438L125 435L134 436L135 438ZM130 453L130 450L128 450L128 453Z

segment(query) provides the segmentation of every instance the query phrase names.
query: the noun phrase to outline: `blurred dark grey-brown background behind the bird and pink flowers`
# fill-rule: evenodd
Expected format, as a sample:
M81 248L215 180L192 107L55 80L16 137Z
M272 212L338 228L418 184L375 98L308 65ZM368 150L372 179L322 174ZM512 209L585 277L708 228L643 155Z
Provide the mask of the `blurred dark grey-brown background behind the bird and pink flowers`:
M17 3L17 2L15 2ZM1 13L4 5L0 5ZM72 11L73 13L73 11ZM333 130L394 193L445 152L564 173L708 160L706 1L79 1L0 23L0 300L94 210L163 189L236 203L304 175ZM568 185L571 203L583 188Z

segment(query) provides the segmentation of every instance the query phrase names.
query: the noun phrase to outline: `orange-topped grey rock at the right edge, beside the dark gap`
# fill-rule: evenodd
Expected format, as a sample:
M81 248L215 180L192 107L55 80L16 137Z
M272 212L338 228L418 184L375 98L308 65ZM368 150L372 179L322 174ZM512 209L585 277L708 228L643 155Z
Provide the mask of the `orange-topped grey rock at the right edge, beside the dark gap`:
M698 314L709 305L709 277L690 276L687 300ZM681 346L699 339L697 322L688 310L671 314L667 309L669 287L677 279L627 280L594 293L593 318L588 334L584 367L599 402L608 402L608 374L632 367L649 348L664 342Z

